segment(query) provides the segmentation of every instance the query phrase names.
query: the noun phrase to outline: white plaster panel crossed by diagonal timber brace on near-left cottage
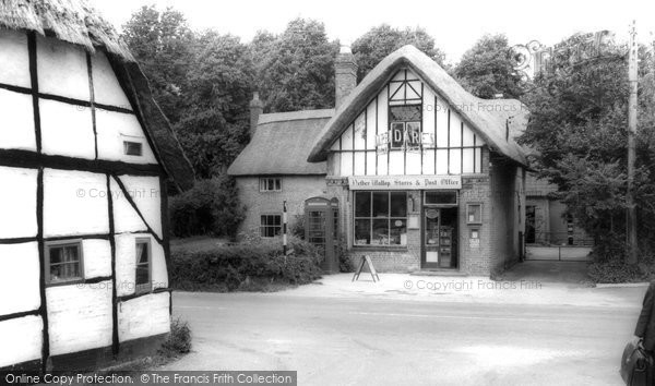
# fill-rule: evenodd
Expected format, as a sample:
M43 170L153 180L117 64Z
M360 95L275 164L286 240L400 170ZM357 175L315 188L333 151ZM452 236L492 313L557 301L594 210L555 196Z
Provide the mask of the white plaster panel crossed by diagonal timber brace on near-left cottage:
M159 238L162 238L162 197L159 194L159 178L132 176L121 176L119 178L147 225ZM143 230L145 227L139 217L139 214L134 210L132 205L130 205L119 189L118 184L115 184L115 181L112 181L111 191L120 193L118 201L115 201L114 218L116 231L120 233ZM116 206L116 202L120 205Z

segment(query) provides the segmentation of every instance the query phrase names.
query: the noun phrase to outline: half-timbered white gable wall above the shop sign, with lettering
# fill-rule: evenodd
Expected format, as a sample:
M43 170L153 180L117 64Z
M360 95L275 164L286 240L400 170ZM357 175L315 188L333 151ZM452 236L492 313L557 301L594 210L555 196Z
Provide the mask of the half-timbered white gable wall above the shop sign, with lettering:
M393 147L391 108L415 107L408 121L420 122L415 149ZM464 106L461 108L479 108ZM398 123L404 123L398 120ZM412 124L412 123L410 123ZM389 150L377 152L382 141ZM410 70L400 70L367 105L344 133L333 142L329 156L330 176L419 176L483 172L485 142L460 114ZM410 146L409 146L410 147Z

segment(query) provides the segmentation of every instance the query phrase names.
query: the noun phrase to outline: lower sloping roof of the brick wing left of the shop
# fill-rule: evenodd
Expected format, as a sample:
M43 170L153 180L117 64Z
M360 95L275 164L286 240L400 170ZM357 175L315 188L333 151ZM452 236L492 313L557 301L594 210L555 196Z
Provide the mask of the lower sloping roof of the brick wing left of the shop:
M334 110L261 114L257 132L227 170L231 176L326 174L325 162L307 157Z

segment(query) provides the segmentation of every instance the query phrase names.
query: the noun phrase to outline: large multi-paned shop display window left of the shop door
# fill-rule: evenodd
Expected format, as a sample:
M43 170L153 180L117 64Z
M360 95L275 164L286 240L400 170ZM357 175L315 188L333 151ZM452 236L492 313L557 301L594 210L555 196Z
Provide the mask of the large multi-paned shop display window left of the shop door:
M355 244L406 245L407 193L355 192Z

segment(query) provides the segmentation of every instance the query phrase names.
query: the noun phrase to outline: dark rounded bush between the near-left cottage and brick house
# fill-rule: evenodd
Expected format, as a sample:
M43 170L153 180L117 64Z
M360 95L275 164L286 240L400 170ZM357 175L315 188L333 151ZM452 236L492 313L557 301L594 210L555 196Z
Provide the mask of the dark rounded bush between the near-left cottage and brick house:
M246 217L234 179L221 176L201 180L170 200L170 231L175 237L199 234L235 237Z

